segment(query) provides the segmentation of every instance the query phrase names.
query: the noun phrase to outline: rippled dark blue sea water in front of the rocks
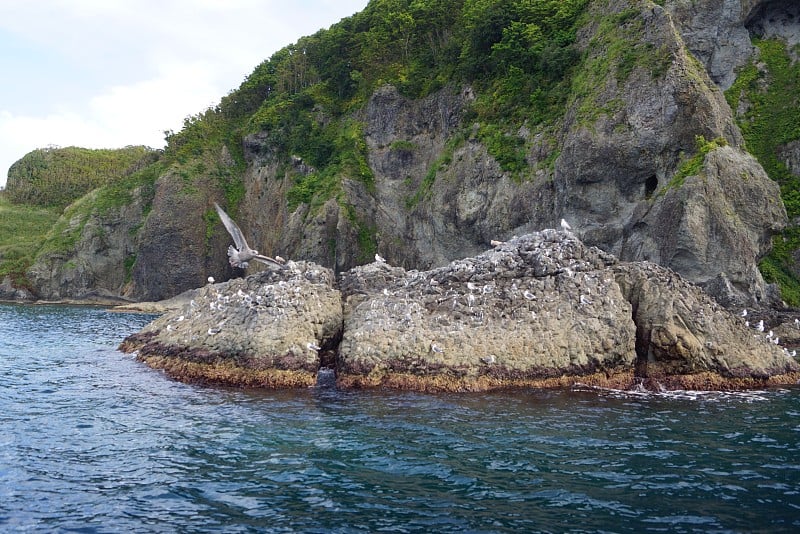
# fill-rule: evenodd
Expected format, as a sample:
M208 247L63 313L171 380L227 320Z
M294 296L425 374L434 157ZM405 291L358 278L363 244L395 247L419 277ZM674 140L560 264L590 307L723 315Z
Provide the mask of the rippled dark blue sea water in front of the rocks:
M0 306L0 530L800 529L798 389L204 388L115 351L149 319Z

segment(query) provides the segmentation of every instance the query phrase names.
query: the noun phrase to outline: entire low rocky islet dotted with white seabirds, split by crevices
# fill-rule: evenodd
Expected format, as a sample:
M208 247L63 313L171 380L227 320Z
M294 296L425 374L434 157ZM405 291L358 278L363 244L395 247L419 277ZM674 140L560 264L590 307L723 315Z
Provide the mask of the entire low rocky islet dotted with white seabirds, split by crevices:
M772 332L667 268L620 262L566 230L429 271L378 257L337 277L290 261L184 301L121 349L190 382L710 390L800 379Z

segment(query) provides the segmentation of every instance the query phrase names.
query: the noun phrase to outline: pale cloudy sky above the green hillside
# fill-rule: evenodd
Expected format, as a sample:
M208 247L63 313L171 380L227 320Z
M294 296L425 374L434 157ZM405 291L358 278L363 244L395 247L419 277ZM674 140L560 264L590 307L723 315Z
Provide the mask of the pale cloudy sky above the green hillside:
M0 0L0 186L37 148L163 148L274 52L366 5Z

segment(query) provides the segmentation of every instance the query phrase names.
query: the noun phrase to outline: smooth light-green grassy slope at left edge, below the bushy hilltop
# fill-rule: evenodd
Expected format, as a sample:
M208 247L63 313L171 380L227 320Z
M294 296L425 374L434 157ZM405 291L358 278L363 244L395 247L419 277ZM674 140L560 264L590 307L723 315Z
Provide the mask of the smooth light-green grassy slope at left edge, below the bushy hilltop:
M0 193L0 280L10 276L27 287L25 271L33 263L60 210L12 204Z

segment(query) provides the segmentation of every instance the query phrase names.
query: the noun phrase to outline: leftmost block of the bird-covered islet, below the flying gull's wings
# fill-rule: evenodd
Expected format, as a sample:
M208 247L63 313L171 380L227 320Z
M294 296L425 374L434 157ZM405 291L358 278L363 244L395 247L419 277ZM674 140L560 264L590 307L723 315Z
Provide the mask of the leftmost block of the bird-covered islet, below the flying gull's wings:
M183 380L307 386L316 382L320 352L335 346L341 328L333 273L290 262L280 271L204 286L125 346Z

